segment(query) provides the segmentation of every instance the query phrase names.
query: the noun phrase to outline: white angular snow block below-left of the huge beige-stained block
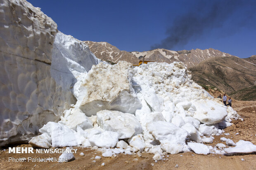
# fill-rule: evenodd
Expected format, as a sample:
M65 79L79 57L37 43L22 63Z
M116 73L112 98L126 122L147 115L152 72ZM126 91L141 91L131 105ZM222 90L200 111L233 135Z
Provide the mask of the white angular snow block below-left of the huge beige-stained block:
M66 118L65 118L66 117ZM61 123L76 130L80 126L83 130L93 128L92 121L78 108L71 109L70 115L62 117Z

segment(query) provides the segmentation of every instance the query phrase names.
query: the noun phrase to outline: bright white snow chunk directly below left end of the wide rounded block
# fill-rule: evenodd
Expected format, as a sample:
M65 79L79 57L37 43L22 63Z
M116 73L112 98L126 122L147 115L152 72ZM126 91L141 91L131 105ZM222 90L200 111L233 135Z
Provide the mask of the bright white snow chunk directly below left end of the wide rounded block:
M104 131L97 135L89 137L90 144L94 147L110 147L113 148L118 142L119 134L116 132Z

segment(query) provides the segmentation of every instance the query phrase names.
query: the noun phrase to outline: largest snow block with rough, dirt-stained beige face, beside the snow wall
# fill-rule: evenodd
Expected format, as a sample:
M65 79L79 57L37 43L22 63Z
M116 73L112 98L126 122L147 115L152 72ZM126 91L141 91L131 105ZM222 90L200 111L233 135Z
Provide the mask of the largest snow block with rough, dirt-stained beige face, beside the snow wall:
M79 87L76 106L87 116L104 109L135 114L142 105L131 79L130 63L119 61L116 65L94 65Z

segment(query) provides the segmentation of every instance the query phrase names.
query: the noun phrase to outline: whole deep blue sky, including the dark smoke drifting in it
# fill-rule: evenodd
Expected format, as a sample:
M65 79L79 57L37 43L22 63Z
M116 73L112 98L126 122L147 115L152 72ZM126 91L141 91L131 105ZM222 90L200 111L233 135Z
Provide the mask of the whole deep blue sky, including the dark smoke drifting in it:
M109 42L120 50L213 48L241 58L256 55L256 0L28 2L51 17L62 33Z

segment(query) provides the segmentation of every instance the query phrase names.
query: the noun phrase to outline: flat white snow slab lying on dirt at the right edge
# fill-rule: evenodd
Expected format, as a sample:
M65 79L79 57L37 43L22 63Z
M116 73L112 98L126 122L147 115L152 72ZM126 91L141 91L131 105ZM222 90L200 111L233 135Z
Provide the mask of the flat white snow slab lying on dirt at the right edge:
M224 149L224 151L228 154L232 154L232 153L249 154L252 152L256 152L256 145L252 144L249 141L239 140L237 142L237 146L226 148Z

